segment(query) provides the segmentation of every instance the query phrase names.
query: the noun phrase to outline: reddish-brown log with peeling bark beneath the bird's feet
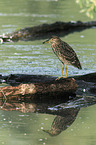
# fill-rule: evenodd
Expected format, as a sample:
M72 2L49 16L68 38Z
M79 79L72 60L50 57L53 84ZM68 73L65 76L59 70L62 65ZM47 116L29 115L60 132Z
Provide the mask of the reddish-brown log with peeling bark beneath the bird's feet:
M11 101L48 101L54 98L68 99L69 95L75 93L77 84L72 78L53 80L50 82L38 82L20 84L18 86L6 86L1 88L0 98L6 97ZM3 93L2 93L3 92Z

